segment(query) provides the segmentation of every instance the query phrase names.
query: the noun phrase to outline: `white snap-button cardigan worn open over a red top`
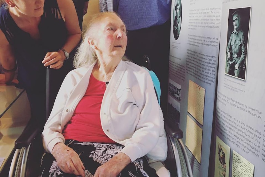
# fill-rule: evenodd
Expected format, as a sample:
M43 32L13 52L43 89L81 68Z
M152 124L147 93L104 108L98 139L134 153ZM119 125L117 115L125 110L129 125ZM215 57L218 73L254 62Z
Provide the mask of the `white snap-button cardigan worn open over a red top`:
M94 64L72 70L65 77L42 132L46 151L65 142L62 131L85 94ZM156 161L166 159L162 111L152 78L142 67L127 61L118 64L103 96L100 119L105 134L125 146L121 152L132 162L144 155Z

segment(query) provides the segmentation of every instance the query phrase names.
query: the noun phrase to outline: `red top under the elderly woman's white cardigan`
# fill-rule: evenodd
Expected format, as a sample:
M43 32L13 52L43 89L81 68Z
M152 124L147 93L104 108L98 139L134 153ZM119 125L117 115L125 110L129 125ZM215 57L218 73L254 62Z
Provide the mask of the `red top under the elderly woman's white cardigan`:
M97 80L91 74L85 95L63 130L65 139L81 142L116 143L104 133L101 127L100 108L105 90L106 83Z

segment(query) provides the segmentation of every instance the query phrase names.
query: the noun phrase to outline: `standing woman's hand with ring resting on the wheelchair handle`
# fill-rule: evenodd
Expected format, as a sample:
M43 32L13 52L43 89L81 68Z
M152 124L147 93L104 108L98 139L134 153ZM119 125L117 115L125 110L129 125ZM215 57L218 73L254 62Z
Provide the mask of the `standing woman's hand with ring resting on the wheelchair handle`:
M63 66L64 58L59 52L48 52L42 63L44 66L50 66L53 69L59 69Z

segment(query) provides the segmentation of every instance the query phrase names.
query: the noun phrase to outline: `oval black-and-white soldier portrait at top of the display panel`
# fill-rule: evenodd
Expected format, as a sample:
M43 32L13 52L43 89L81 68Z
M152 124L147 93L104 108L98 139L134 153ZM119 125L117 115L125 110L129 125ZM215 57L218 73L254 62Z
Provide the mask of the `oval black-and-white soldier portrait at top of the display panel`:
M181 0L175 0L172 11L173 11L173 35L175 40L177 40L180 36L181 18L182 18Z

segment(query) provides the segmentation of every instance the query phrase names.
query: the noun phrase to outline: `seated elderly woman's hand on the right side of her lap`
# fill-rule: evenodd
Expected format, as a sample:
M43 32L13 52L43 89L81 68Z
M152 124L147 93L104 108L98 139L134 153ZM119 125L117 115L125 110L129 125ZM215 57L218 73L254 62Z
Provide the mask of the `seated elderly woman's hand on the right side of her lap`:
M97 168L94 177L117 177L131 163L128 155L119 152L108 162Z

